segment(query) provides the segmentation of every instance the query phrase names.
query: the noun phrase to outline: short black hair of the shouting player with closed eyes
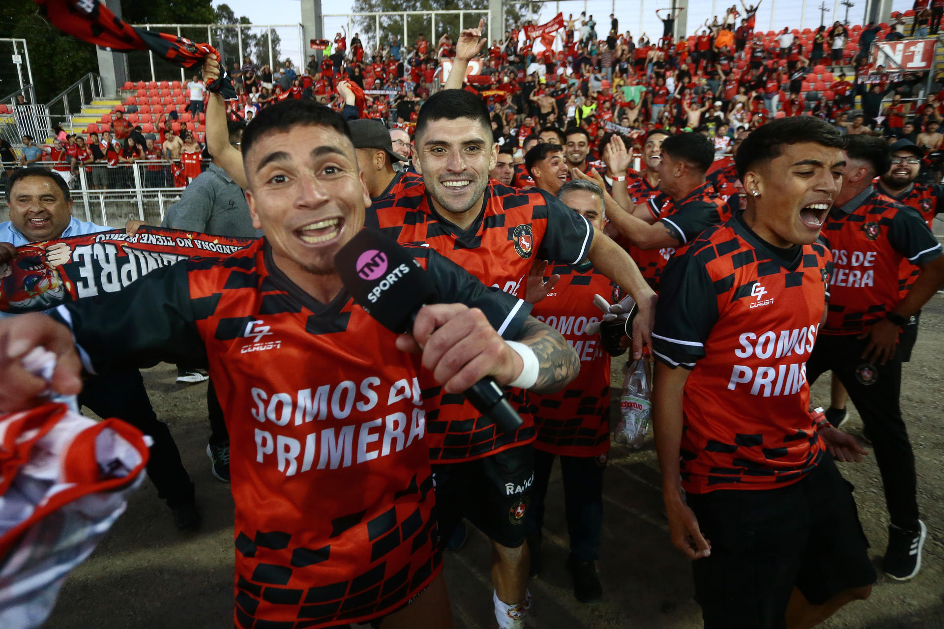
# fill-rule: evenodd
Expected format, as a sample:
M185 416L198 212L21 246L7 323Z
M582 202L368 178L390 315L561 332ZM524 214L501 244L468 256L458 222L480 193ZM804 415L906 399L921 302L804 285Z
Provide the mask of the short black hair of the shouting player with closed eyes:
M830 148L845 148L846 140L833 124L813 116L779 118L761 124L741 142L734 156L734 170L741 180L751 166L780 157L784 145L816 142ZM663 149L665 150L665 148ZM885 171L883 171L884 173Z

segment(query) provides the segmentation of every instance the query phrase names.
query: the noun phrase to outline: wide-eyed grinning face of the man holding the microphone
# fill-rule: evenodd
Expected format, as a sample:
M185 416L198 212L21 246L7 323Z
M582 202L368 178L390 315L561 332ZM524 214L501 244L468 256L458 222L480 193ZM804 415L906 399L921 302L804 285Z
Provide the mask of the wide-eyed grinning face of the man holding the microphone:
M370 205L350 139L316 124L271 131L253 142L244 168L252 224L278 266L335 273L334 255L361 230Z

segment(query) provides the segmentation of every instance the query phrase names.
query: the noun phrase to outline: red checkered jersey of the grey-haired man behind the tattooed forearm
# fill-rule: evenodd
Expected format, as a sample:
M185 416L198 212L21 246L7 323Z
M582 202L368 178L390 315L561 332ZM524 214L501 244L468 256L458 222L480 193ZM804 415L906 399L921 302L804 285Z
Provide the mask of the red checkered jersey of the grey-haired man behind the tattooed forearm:
M534 305L531 315L564 335L580 356L581 371L562 391L531 393L534 448L555 455L602 455L610 449L610 356L600 347L598 335L587 336L584 329L603 314L593 305L594 295L616 303L619 291L589 263L548 269L548 274L554 273L560 281Z

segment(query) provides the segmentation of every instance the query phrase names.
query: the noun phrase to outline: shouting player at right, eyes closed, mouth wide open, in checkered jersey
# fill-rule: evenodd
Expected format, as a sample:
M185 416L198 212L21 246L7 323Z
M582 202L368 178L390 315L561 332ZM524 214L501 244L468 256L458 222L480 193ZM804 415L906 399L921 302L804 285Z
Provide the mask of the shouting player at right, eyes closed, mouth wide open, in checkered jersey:
M656 449L707 629L812 627L875 581L833 462L864 451L811 416L804 366L826 307L832 256L817 239L842 186L842 146L818 118L753 131L735 161L747 209L662 275Z

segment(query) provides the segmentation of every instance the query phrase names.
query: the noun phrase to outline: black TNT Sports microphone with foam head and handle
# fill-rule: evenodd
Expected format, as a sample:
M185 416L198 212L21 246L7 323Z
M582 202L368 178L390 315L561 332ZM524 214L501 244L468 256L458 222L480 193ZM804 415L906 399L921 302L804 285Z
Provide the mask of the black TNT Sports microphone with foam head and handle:
M358 306L396 334L413 330L420 307L440 303L430 275L396 240L376 229L364 227L349 240L334 256L334 267ZM503 433L524 423L491 376L464 395Z

